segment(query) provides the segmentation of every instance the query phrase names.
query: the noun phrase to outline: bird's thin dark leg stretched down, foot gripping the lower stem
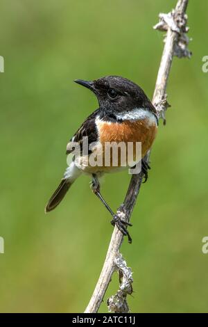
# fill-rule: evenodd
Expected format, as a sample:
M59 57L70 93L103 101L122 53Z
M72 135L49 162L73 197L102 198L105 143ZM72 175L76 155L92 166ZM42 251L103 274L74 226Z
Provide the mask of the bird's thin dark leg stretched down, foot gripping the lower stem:
M112 225L116 225L117 228L122 232L123 235L126 235L128 237L128 242L132 243L132 239L130 237L130 234L126 228L126 226L132 226L132 224L127 223L125 221L123 221L118 215L114 214L114 212L112 212L112 209L110 209L109 205L107 205L107 202L105 202L105 200L103 199L103 196L101 196L101 192L100 192L101 186L100 183L98 181L98 177L96 174L92 174L92 191L94 192L94 194L101 200L101 202L103 203L103 205L105 205L105 208L110 212L110 214L112 215Z

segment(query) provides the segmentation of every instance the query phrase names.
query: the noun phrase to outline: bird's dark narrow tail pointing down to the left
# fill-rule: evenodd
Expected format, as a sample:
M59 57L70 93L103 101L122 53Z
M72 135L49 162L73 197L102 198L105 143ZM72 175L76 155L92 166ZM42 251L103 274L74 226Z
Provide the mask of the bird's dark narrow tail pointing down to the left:
M51 210L55 209L57 207L61 200L66 195L67 191L69 190L69 187L72 183L69 182L67 179L63 179L58 188L55 190L53 195L51 196L49 202L46 205L45 212L51 212Z

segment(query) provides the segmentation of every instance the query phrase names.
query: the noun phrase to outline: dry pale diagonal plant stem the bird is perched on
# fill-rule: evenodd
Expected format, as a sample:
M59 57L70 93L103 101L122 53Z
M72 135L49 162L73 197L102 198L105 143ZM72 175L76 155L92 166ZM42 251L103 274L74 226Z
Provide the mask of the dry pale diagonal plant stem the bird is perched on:
M154 29L167 32L153 95L153 104L157 110L157 115L164 120L164 123L165 111L169 106L166 100L166 86L173 56L175 55L179 58L191 56L191 53L187 49L189 38L187 38L185 34L188 31L186 26L187 15L185 14L188 1L189 0L178 0L175 10L172 10L171 13L168 14L159 14L159 23L154 26ZM148 153L147 160L149 156L150 152ZM139 173L139 175L132 175L125 200L117 211L117 214L127 222L130 220L135 206L141 188L142 178L142 173ZM110 312L129 312L126 296L132 293L132 271L126 266L126 262L119 253L122 241L123 234L115 227L107 250L101 276L98 279L85 313L98 312L106 289L112 278L112 273L116 270L119 271L120 287L116 295L107 300L108 309Z

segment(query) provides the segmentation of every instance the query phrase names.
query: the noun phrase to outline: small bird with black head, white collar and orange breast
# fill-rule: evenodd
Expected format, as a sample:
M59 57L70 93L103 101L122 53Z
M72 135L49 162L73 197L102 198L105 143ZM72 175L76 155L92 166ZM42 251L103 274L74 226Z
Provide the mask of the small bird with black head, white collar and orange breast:
M141 162L141 170L146 182L150 167L145 156L153 145L158 127L155 106L137 83L124 77L110 75L92 81L76 79L75 82L91 90L96 95L99 106L80 125L80 128L67 143L66 153L71 154L73 159L65 170L58 188L49 199L45 212L51 212L60 204L73 182L80 175L83 173L90 175L92 177L92 191L110 212L112 225L116 225L131 243L132 239L127 230L128 225L131 226L131 224L114 214L101 195L99 182L103 174L114 173L126 167L121 165L121 151L117 152L119 153L117 166L112 164L112 152L110 152L110 163L106 165L104 160L106 154L104 154L103 148L105 148L105 144L122 142L126 145L132 143L134 159L137 160L135 158L135 143L140 142L141 156L139 162ZM88 152L86 152L85 138L87 138ZM77 156L74 144L77 144L80 149ZM127 151L125 150L125 152ZM103 157L99 164L92 165L89 163L89 157L95 153L102 154ZM130 164L128 163L126 166L129 167Z

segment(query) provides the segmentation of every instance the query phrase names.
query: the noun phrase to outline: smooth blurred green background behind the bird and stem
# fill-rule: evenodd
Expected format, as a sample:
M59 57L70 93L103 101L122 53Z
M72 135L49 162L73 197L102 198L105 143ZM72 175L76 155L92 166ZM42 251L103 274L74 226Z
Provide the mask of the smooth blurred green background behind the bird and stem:
M0 74L1 312L83 312L112 234L86 176L60 207L44 206L66 167L65 149L96 98L73 79L118 74L152 97L163 49L153 30L176 0L2 0ZM132 312L207 312L207 1L190 1L191 60L174 58L167 125L132 214L122 253L134 272ZM130 175L106 175L115 210ZM105 296L116 292L114 275ZM107 312L105 303L100 312Z

